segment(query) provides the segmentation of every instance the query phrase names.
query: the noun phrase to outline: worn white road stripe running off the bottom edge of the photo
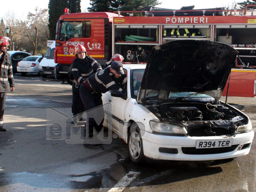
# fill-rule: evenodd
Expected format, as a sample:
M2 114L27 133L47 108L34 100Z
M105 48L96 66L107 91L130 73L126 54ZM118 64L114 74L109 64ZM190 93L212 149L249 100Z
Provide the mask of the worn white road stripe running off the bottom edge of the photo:
M138 175L140 172L129 172L108 192L121 192L123 189L129 185Z

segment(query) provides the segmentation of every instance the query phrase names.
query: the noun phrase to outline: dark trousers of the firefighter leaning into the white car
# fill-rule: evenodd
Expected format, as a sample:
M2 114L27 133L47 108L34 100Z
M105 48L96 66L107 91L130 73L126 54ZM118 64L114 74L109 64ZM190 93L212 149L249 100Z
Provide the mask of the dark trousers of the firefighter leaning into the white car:
M85 136L88 133L88 137L93 137L93 129L100 132L103 128L104 110L101 96L101 93L93 94L88 91L84 83L80 87L80 97L87 115L86 124L84 125Z

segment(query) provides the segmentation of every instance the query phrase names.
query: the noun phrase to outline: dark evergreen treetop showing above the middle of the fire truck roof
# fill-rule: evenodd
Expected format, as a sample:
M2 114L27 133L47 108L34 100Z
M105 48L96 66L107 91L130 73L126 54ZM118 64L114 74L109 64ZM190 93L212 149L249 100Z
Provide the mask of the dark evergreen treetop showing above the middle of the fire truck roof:
M159 4L158 0L90 0L92 7L88 7L87 9L90 12L139 11L144 7Z

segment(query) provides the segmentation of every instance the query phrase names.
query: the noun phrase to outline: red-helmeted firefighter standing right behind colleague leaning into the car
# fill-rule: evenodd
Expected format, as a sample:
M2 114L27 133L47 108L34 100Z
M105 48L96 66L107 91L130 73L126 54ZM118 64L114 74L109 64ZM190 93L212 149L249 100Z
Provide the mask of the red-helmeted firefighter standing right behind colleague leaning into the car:
M72 113L74 117L72 123L77 123L81 118L81 113L84 112L79 94L80 85L89 77L89 75L102 69L100 64L94 58L87 55L86 48L84 48L83 45L79 44L75 47L75 56L76 58L71 66L72 75L74 77L74 82L72 84Z

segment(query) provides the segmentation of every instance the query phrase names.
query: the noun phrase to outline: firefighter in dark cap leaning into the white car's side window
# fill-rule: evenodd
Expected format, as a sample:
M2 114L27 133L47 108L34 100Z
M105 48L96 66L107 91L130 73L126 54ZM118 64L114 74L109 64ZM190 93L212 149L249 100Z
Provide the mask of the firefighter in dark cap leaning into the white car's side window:
M84 109L86 111L93 109L97 106L102 105L101 93L105 93L109 90L119 90L122 89L117 85L117 80L121 75L124 75L123 65L120 61L113 61L111 66L100 70L93 75L90 75L86 81L84 81L80 87L80 96L83 102ZM124 81L126 78L124 79ZM125 83L123 81L123 83ZM102 109L101 114L97 114L97 118L102 119L101 123L97 125L94 118L89 118L88 122L88 137L93 137L93 129L95 128L97 132L102 129L104 111ZM86 133L86 125L84 126L84 133ZM95 146L97 144L84 144L84 146Z

